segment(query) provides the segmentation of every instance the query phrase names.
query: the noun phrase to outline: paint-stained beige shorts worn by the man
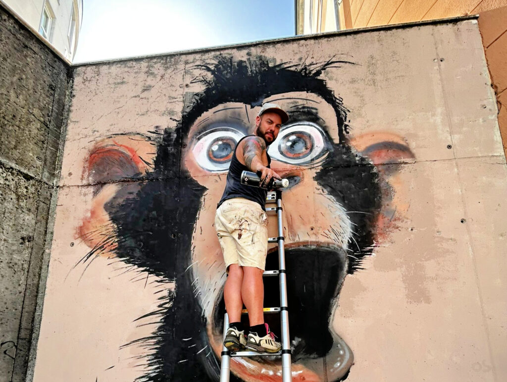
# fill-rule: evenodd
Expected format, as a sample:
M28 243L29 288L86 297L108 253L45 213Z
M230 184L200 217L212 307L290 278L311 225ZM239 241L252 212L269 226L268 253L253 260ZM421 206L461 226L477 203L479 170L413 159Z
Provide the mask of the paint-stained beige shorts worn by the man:
M259 203L245 198L224 201L215 215L226 269L231 264L266 268L268 217Z

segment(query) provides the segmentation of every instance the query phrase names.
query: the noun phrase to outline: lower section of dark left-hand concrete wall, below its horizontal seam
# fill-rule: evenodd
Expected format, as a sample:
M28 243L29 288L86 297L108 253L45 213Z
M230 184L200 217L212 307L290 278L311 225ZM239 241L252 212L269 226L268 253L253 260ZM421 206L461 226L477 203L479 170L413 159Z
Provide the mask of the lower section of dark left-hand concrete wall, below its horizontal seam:
M15 357L28 355L51 187L12 167L0 167L2 378L19 380L12 375L12 368Z

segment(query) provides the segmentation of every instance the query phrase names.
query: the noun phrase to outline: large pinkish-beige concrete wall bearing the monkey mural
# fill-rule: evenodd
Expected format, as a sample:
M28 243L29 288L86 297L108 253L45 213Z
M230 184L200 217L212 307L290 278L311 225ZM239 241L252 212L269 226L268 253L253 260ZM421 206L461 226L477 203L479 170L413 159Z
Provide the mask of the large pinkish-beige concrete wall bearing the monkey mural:
M33 380L217 379L214 210L275 100L294 377L505 379L507 168L477 20L74 76ZM279 380L276 360L231 368Z

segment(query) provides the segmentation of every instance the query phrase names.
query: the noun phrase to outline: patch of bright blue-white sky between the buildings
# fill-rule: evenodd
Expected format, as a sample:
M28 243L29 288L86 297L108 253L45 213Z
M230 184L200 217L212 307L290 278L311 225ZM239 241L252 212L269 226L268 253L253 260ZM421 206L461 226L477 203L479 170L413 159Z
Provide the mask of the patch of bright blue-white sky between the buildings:
M84 0L74 62L294 36L294 0Z

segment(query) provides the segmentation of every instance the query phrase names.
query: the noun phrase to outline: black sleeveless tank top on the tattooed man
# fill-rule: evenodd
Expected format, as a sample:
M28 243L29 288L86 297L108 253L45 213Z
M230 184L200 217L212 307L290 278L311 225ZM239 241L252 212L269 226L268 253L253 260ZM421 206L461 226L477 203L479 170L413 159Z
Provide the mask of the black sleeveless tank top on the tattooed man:
M247 136L255 136L255 135L247 135ZM239 146L239 143L244 140L247 136L242 137L237 143L236 147ZM268 165L271 164L271 158L269 154L268 156ZM234 154L232 154L231 164L229 166L229 173L227 174L227 184L225 186L224 194L222 195L222 199L220 199L219 204L216 208L220 207L220 205L232 198L245 198L251 201L255 201L259 203L264 211L266 211L266 197L268 196L268 190L259 187L245 186L241 184L241 172L244 170L250 171L244 164L236 157L236 148L234 148Z

